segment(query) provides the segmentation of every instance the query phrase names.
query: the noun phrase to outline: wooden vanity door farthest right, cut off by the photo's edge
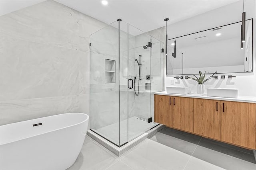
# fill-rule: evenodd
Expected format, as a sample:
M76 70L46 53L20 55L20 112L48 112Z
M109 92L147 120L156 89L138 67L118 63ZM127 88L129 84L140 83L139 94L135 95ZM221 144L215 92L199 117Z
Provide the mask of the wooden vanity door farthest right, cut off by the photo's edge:
M256 105L221 102L220 140L256 149Z

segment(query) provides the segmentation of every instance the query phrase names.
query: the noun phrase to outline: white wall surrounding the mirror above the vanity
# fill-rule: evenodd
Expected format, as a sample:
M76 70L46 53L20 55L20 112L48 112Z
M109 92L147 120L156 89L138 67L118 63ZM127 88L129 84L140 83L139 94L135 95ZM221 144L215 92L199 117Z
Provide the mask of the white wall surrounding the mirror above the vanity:
M255 0L245 1L246 19L253 18L253 60L254 60L254 72L253 73L240 73L232 74L236 78L228 79L226 75L225 79L212 79L206 82L206 88L238 88L239 95L242 96L256 96L256 67L255 67ZM210 29L218 25L225 25L242 20L242 0L233 4L200 14L198 16L189 18L172 25L168 25L168 37L178 37L186 35L188 33L194 33L197 31ZM219 75L219 77L220 77ZM171 80L174 76L166 76L166 86L171 86ZM196 82L193 80L176 80L174 79L174 86L190 86L192 93L196 93Z

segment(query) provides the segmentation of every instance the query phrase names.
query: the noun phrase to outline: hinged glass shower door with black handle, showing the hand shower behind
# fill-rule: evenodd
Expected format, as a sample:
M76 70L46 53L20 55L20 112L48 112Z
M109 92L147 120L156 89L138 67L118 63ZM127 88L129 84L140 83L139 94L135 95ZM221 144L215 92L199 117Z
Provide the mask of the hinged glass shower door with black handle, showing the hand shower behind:
M150 129L150 35L128 25L128 141Z

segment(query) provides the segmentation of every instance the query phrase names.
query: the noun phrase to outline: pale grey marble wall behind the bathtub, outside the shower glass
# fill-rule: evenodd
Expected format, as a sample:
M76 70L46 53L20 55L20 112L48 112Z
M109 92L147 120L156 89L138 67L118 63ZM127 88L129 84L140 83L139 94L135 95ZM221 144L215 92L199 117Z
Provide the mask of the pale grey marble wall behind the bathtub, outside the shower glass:
M89 37L105 26L53 0L0 16L0 125L89 114Z

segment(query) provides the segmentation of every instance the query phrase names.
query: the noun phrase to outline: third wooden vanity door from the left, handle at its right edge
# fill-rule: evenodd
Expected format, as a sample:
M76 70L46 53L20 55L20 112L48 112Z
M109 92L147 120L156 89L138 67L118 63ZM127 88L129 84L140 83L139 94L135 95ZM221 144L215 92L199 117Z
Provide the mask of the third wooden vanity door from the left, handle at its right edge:
M194 99L194 133L220 140L220 101Z

